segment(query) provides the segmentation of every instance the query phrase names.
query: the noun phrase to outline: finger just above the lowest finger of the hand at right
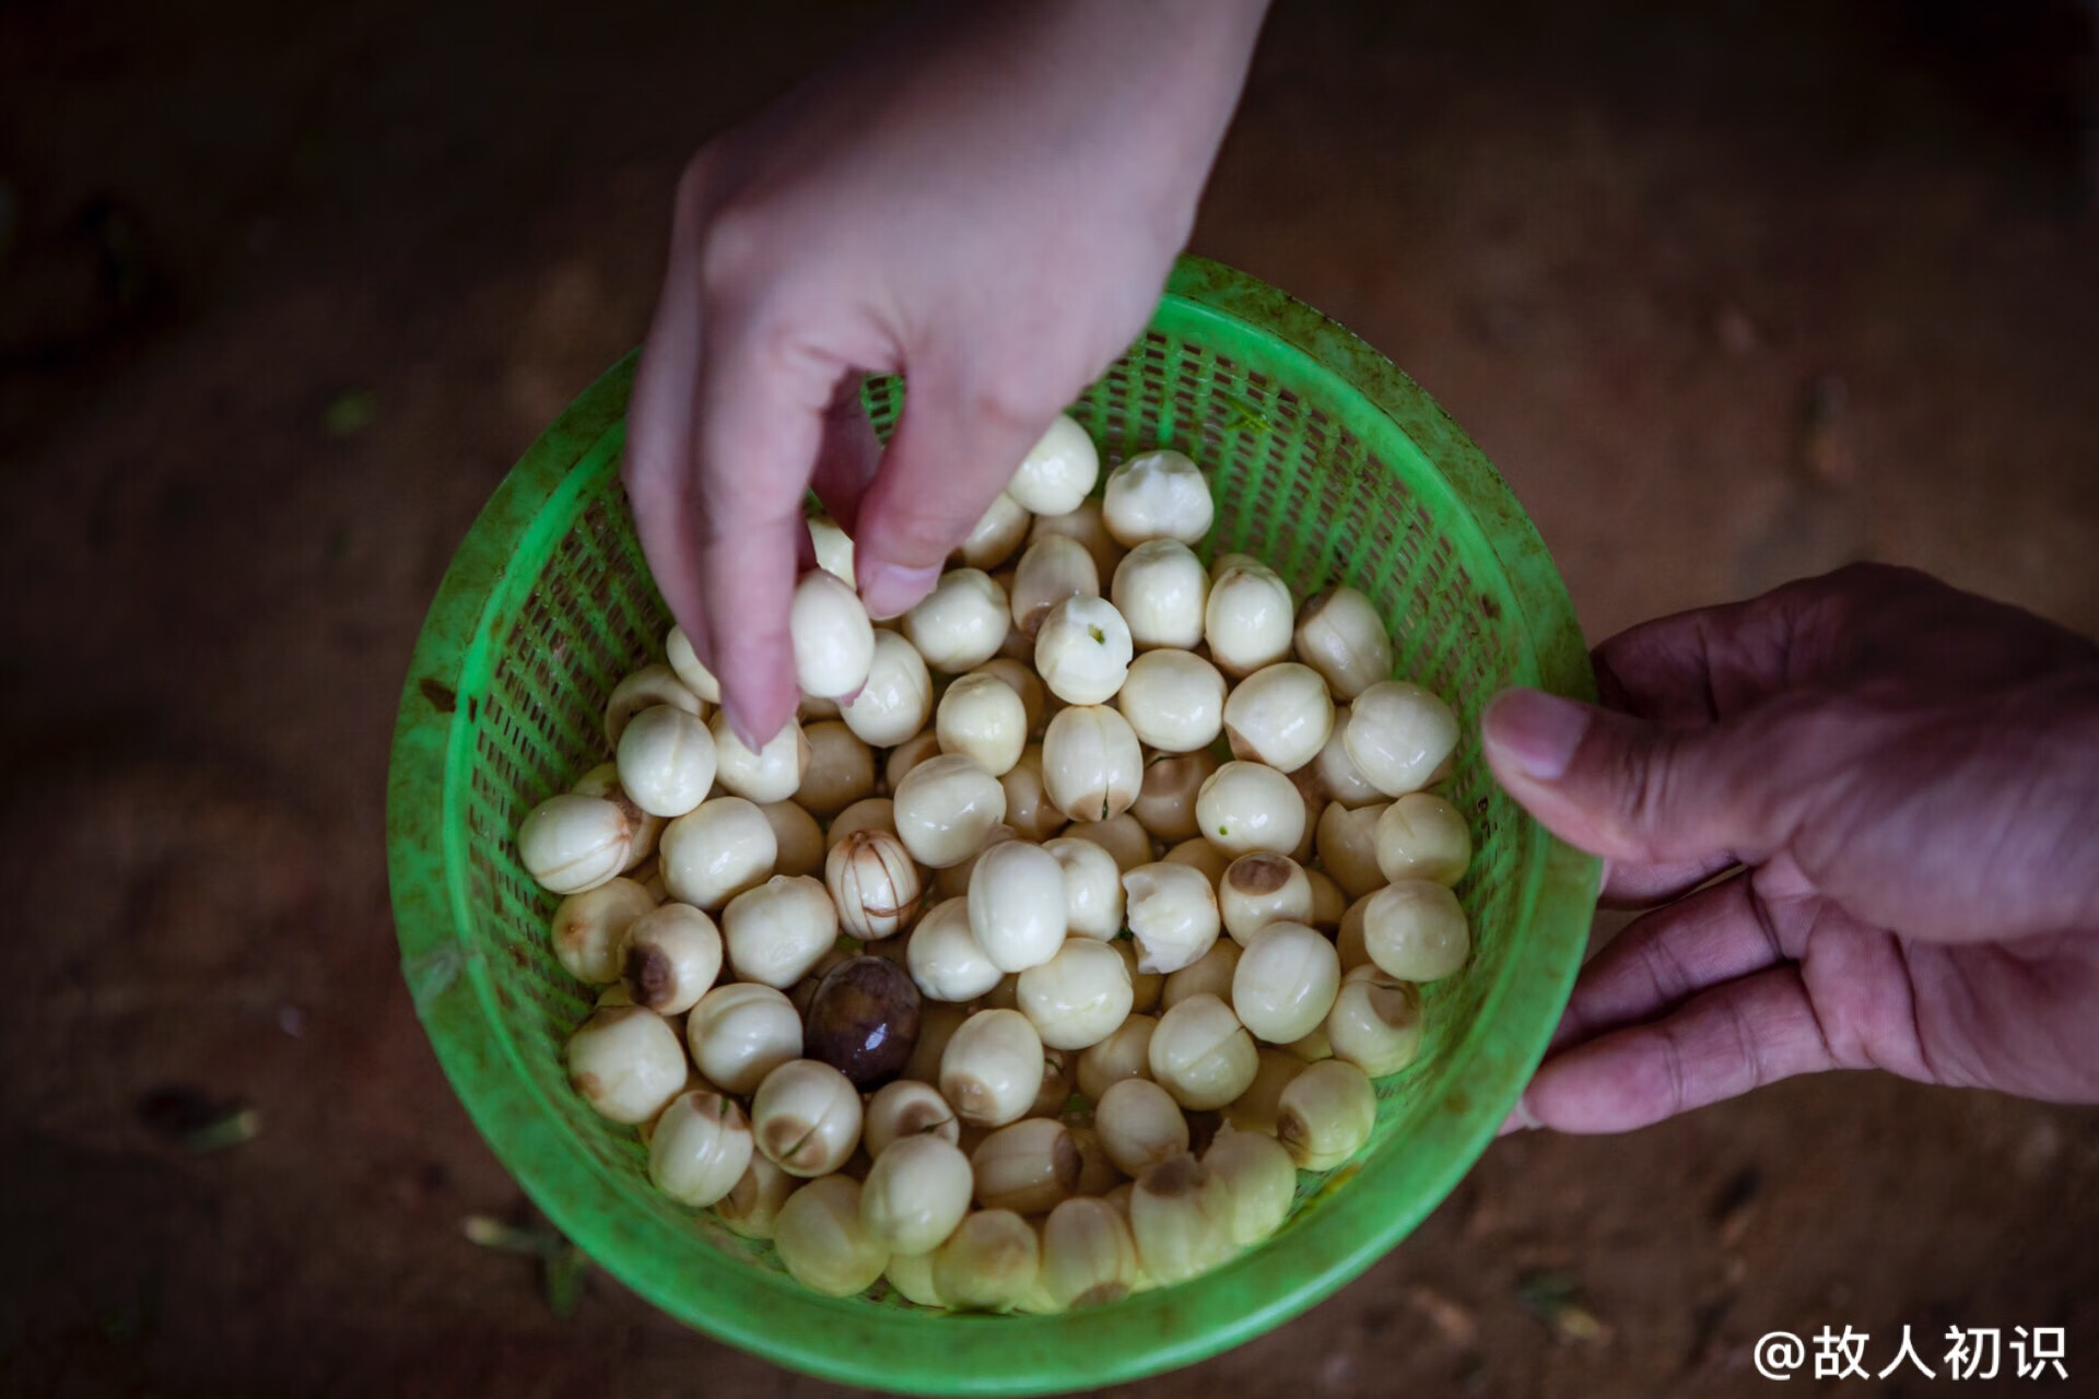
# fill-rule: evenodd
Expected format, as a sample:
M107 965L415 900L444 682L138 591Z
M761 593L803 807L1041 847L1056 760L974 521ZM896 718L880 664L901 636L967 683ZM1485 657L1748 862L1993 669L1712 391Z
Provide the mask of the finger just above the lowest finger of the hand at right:
M1581 971L1547 1053L1654 1019L1702 990L1784 961L1748 875L1635 919Z

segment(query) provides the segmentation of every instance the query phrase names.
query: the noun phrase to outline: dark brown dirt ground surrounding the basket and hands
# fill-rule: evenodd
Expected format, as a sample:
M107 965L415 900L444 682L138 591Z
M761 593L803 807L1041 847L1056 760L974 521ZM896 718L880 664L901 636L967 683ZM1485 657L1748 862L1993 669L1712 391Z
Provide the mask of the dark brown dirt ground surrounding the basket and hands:
M682 155L888 13L0 8L0 1393L829 1389L462 1237L521 1200L382 801L422 610L638 340ZM1591 638L1862 556L2091 633L2095 82L2074 4L1285 0L1194 247L1413 371ZM1803 1080L1503 1141L1136 1389L1751 1395L1767 1330L1912 1326L1937 1382L1803 1386L1921 1395L1948 1326L2061 1326L2074 1393L2095 1231L2099 1114Z

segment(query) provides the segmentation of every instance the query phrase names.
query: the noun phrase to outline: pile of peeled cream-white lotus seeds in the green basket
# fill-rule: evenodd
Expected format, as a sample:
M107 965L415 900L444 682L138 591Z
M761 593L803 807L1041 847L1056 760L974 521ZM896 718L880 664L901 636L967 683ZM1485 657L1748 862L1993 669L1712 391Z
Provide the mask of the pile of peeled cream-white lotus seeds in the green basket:
M1173 1284L1360 1152L1465 965L1459 724L1360 591L1207 568L1186 455L1060 417L875 625L810 518L762 749L672 629L518 828L602 986L575 1091L804 1286L1062 1311ZM712 719L709 719L712 711Z

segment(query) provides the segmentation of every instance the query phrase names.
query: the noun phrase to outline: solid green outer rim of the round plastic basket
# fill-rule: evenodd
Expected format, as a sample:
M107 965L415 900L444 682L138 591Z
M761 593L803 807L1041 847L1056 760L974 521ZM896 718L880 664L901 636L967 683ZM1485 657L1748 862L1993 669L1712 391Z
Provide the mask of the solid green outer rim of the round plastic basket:
M1522 610L1524 680L1593 698L1595 680L1572 602L1536 529L1471 438L1392 361L1312 306L1205 258L1180 258L1165 302L1230 321L1335 378L1390 417L1469 512ZM1530 870L1518 917L1528 933L1511 971L1461 1042L1442 1112L1415 1137L1442 1170L1432 1189L1387 1202L1379 1179L1394 1154L1329 1181L1350 1189L1293 1221L1276 1242L1173 1288L1108 1309L1050 1317L942 1317L823 1298L787 1277L720 1258L695 1275L651 1252L661 1233L621 1221L605 1168L575 1152L552 1105L525 1074L468 923L464 820L449 780L472 757L470 724L487 682L491 604L521 539L579 478L617 459L638 354L600 375L539 436L483 508L430 604L403 684L388 772L386 860L401 967L439 1063L483 1139L527 1196L619 1282L682 1321L775 1363L827 1380L907 1391L1024 1395L1094 1389L1207 1359L1295 1317L1383 1256L1457 1187L1492 1143L1572 990L1587 946L1602 862L1524 818ZM1520 973L1518 973L1520 969ZM1490 1040L1490 1042L1488 1042ZM1270 1248L1287 1246L1278 1284ZM712 1263L709 1263L712 1271Z

